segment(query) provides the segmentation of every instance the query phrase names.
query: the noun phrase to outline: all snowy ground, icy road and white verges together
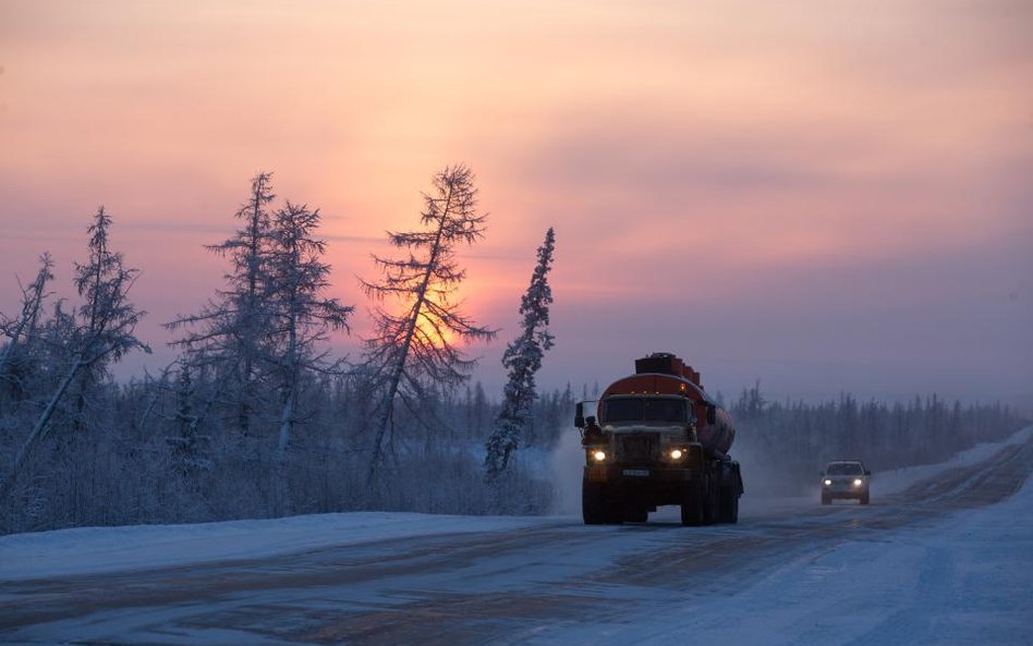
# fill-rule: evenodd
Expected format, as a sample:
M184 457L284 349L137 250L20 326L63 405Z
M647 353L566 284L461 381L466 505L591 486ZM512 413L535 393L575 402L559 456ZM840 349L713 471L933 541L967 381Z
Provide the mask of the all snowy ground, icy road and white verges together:
M907 487L877 474L868 507L744 499L733 526L331 514L2 537L0 643L1028 645L1031 435Z

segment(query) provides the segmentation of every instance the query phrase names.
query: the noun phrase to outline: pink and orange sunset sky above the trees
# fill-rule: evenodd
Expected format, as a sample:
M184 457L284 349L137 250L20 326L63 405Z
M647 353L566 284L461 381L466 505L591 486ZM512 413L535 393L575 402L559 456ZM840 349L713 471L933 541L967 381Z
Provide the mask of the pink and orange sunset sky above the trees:
M272 171L358 358L356 277L462 162L489 394L554 227L543 388L670 351L728 398L1033 395L1029 33L1023 0L0 0L0 312L45 251L71 292L104 205L155 350L121 374L160 369Z

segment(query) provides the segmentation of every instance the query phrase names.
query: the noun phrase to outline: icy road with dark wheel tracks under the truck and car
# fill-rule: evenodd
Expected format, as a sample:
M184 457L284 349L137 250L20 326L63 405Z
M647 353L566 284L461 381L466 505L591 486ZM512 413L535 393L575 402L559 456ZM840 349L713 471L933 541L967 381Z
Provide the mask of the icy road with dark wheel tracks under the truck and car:
M890 541L999 502L1033 471L1033 441L907 491L852 503L744 505L738 525L530 528L406 538L256 560L8 582L10 644L526 644L633 623L678 600L731 598L789 562ZM131 546L126 546L131 549ZM561 643L556 637L555 643Z

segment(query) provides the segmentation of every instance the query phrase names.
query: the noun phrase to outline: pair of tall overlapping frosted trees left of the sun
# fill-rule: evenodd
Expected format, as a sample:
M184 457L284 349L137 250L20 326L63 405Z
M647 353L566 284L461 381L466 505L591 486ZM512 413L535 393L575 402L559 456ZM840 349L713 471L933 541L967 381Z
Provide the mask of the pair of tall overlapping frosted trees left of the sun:
M223 410L235 416L243 436L258 440L258 460L263 438L256 423L278 418L276 456L282 459L304 378L338 365L317 345L330 330L347 330L353 309L323 295L330 266L321 260L326 243L315 236L318 209L287 202L271 210L274 198L271 173L255 175L247 202L234 214L242 226L207 247L230 261L224 289L199 314L167 324L187 328L174 345L183 348L195 373L219 382Z

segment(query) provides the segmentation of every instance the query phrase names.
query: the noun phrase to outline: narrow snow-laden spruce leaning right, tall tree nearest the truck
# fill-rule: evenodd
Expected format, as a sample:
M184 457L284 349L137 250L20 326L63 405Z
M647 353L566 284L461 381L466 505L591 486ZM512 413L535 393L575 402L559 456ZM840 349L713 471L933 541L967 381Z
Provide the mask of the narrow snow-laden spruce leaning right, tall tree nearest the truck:
M555 246L556 234L550 227L545 234L545 242L538 247L538 263L531 276L531 284L520 302L520 316L523 317L521 333L506 346L502 354L508 381L502 410L485 444L487 455L484 467L488 478L506 471L513 451L520 447L536 397L534 376L542 367L545 351L552 348L554 337L548 330L552 290L549 288L548 273L552 267Z

